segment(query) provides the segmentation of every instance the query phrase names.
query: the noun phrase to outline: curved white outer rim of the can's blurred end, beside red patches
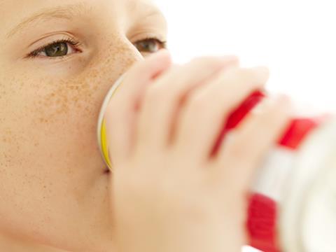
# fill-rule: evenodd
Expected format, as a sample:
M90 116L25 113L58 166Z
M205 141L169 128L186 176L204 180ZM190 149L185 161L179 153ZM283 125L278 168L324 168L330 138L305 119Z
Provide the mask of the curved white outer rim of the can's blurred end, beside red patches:
M300 231L304 225L304 207L309 199L309 188L316 176L320 174L321 169L330 169L325 162L335 154L335 129L336 118L325 120L307 136L296 154L293 171L283 195L283 204L279 209L279 241L283 251L307 251ZM326 139L328 141L325 141ZM314 158L311 158L312 156Z

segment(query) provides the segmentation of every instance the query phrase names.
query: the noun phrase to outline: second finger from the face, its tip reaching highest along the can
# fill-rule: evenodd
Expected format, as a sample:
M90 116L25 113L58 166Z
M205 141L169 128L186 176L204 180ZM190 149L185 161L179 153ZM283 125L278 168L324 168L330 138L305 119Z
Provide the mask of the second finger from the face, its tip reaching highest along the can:
M238 64L237 57L200 57L158 77L141 104L137 142L146 148L167 146L176 111L186 94L230 64Z

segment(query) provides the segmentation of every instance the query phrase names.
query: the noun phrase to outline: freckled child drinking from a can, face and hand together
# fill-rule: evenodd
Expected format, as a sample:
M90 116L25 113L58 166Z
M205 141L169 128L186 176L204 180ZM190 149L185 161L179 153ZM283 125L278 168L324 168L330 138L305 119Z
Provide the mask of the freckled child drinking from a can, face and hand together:
M0 15L0 251L240 250L245 195L286 99L263 102L208 154L267 69L173 65L147 0L1 0ZM97 117L126 71L105 116L109 172Z

